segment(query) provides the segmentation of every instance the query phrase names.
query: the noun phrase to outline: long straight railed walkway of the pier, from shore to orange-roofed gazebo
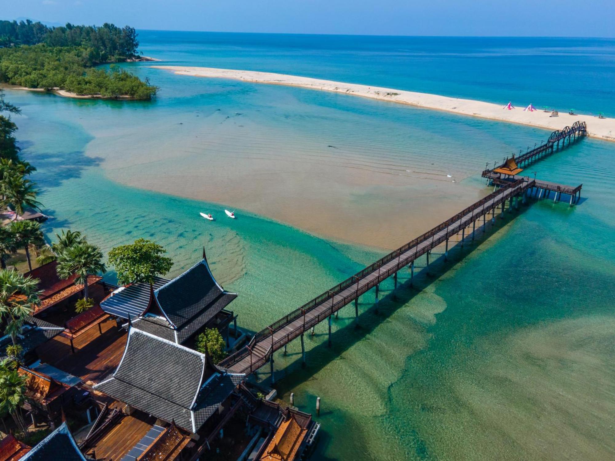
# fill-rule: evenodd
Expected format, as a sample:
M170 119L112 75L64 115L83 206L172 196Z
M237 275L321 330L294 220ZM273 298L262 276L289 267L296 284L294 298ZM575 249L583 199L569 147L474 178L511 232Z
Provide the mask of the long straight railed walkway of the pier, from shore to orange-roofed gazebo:
M327 319L331 314L354 301L361 294L374 286L378 287L379 283L391 275L395 275L400 269L412 265L419 256L427 254L427 264L429 264L429 252L433 248L443 242L447 242L448 245L450 237L459 232L464 232L468 226L472 226L474 229L475 223L480 218L483 218L483 223L485 223L486 216L489 213L494 218L496 208L501 205L503 211L506 200L510 200L512 203L514 197L521 195L525 197L526 191L533 186L533 180L519 180L503 186L485 199L478 200L453 218L447 219L429 232L387 254L358 274L327 290L260 331L253 337L250 344L223 360L220 365L228 368L231 372L252 373L263 366L273 352L308 331L312 326Z

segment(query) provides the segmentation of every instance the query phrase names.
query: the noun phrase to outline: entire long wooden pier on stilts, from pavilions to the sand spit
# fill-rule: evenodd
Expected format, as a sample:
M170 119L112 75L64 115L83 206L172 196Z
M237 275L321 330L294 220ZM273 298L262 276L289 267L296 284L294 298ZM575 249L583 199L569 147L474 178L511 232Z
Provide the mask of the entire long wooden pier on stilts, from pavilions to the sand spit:
M555 143L559 145L560 141L563 141L565 144L566 140L570 143L571 139L576 140L577 136L584 133L584 122L577 122L573 127L566 127L564 130L554 132L546 144L533 149L531 152L526 152L525 156L522 156L522 161L530 162L538 156L550 154L556 146ZM501 167L505 166L505 164L502 164ZM518 208L519 201L523 200L525 203L532 192L537 194L538 191L557 191L561 195L561 193L576 194L576 192L581 190L581 186L563 186L562 184L550 183L549 181L541 181L515 174L502 175L495 172L498 168L483 171L483 177L488 178L488 181L493 181L496 186L497 190L494 190L493 193L478 200L478 202L472 203L465 210L462 210L450 219L446 219L446 221L434 227L434 229L425 232L425 234L392 251L384 256L384 258L370 264L370 266L347 278L344 282L333 286L333 288L325 291L325 293L320 294L320 296L315 297L300 308L293 310L293 312L290 312L285 317L259 331L253 336L248 345L221 361L220 366L232 373L250 374L269 361L273 381L273 353L276 350L282 349L293 339L300 337L302 358L303 363L305 363L304 334L309 329L327 320L329 344L331 344L331 317L339 309L354 301L356 321L359 317L359 296L371 290L371 288L375 288L377 303L379 284L392 276L394 277L395 288L397 288L397 272L407 267L410 268L410 283L412 283L415 261L419 257L426 256L427 270L429 270L429 254L435 247L445 243L446 257L448 255L448 240L451 237L461 232L463 241L466 229L470 228L471 230L469 230L468 235L472 232L472 238L474 238L476 224L478 223L478 226L485 226L487 219L494 221L496 212L504 213L507 200L509 201L509 209L512 209L514 202L516 202L515 206ZM517 168L517 170L520 170L520 168Z

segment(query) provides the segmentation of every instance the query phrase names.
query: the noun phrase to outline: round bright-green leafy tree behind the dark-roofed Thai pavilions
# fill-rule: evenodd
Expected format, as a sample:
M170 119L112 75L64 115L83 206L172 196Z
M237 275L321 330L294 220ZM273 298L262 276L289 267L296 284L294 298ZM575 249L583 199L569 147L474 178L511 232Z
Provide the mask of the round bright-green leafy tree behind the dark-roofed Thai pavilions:
M171 270L173 260L163 256L167 253L161 245L138 238L130 245L121 245L109 251L109 264L117 272L117 280L123 285L135 282L154 283L157 275Z

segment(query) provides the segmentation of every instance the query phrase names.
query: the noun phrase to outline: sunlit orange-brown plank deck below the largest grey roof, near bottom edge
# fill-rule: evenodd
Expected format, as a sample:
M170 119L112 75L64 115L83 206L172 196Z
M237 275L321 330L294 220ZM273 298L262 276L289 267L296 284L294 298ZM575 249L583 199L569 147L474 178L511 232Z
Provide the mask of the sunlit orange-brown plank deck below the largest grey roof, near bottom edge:
M98 460L119 461L148 433L155 422L155 417L148 417L141 412L124 416L119 424L90 447L87 453L91 454L94 451Z

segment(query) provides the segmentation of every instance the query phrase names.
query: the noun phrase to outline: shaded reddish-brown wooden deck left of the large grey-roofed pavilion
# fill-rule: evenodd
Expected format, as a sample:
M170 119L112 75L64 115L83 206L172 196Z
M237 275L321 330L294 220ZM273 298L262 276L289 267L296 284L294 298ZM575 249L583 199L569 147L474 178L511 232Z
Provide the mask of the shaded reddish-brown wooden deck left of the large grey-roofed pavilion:
M78 376L85 384L95 384L113 372L124 354L127 334L118 329L114 320L91 328L74 339L75 353L71 353L70 341L56 336L38 347L41 360L56 368Z

